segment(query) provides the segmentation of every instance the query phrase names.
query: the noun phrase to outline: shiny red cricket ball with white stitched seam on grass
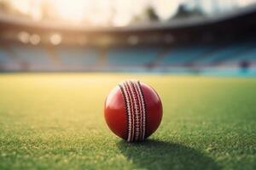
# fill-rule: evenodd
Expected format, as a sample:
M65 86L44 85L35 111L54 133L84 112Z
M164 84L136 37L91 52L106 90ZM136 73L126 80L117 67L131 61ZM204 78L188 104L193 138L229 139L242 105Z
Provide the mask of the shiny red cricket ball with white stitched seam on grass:
M159 127L162 119L159 95L135 80L120 82L105 101L105 120L110 130L128 142L142 141Z

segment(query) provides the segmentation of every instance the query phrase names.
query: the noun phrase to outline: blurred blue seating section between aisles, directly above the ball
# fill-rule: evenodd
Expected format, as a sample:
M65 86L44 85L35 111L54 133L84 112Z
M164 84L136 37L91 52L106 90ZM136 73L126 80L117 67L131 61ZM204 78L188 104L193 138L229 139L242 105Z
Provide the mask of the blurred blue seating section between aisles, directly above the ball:
M154 61L160 48L134 47L110 48L107 54L109 65L145 66Z

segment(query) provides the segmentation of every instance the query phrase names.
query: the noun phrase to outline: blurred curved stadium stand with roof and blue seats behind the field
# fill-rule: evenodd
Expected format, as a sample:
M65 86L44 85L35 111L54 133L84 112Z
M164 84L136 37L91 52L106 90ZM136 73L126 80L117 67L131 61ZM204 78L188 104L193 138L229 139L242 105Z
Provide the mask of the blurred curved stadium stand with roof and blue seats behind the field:
M9 35L0 34L0 70L241 71L256 76L255 19L256 7L210 19L90 30L0 17L0 31ZM20 32L26 32L27 42L19 39ZM32 45L31 35L40 42ZM51 42L51 35L61 39Z

